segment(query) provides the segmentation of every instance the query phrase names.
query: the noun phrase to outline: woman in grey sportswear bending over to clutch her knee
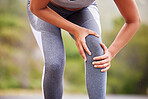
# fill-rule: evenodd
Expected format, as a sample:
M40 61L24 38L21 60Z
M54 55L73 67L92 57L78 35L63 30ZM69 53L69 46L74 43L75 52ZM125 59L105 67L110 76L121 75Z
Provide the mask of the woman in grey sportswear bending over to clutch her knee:
M110 61L140 26L140 16L134 0L114 2L125 24L107 48L101 40L96 0L28 0L30 26L44 58L42 90L45 99L62 99L63 95L65 50L61 29L70 33L85 60L89 99L105 99Z

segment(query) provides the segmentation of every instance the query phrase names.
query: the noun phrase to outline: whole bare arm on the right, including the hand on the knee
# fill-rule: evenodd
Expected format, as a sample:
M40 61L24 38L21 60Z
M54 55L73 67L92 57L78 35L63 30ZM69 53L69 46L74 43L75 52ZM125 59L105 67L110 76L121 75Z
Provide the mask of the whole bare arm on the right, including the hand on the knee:
M101 44L105 54L94 58L94 60L102 59L100 62L94 62L94 65L97 65L96 68L105 67L105 69L102 69L103 72L110 68L110 61L131 40L141 23L138 8L134 0L114 0L114 2L123 16L125 24L108 49L104 44Z

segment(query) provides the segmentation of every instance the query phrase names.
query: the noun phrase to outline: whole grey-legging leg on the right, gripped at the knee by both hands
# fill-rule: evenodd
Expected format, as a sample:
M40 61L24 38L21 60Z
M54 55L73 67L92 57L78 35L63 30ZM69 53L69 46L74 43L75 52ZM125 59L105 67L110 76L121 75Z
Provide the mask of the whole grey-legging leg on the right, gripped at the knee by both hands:
M100 18L96 3L69 16L67 19L82 27L91 29L101 36ZM71 36L73 37L73 35ZM87 62L85 62L85 76L89 99L105 99L106 97L107 72L101 72L100 68L94 68L92 65L93 57L104 54L100 46L101 42L101 37L97 38L94 35L88 35L86 37L86 44L92 53L92 55L89 56L85 52L87 56Z

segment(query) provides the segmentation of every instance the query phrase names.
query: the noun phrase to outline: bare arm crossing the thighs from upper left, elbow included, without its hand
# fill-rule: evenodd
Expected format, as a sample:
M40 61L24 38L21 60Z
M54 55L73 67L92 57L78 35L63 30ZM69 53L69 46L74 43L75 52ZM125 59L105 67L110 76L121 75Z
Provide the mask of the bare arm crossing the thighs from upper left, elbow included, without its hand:
M40 19L62 28L70 33L74 33L75 28L80 28L78 25L69 22L68 20L61 17L54 10L47 7L50 0L31 0L30 10Z

